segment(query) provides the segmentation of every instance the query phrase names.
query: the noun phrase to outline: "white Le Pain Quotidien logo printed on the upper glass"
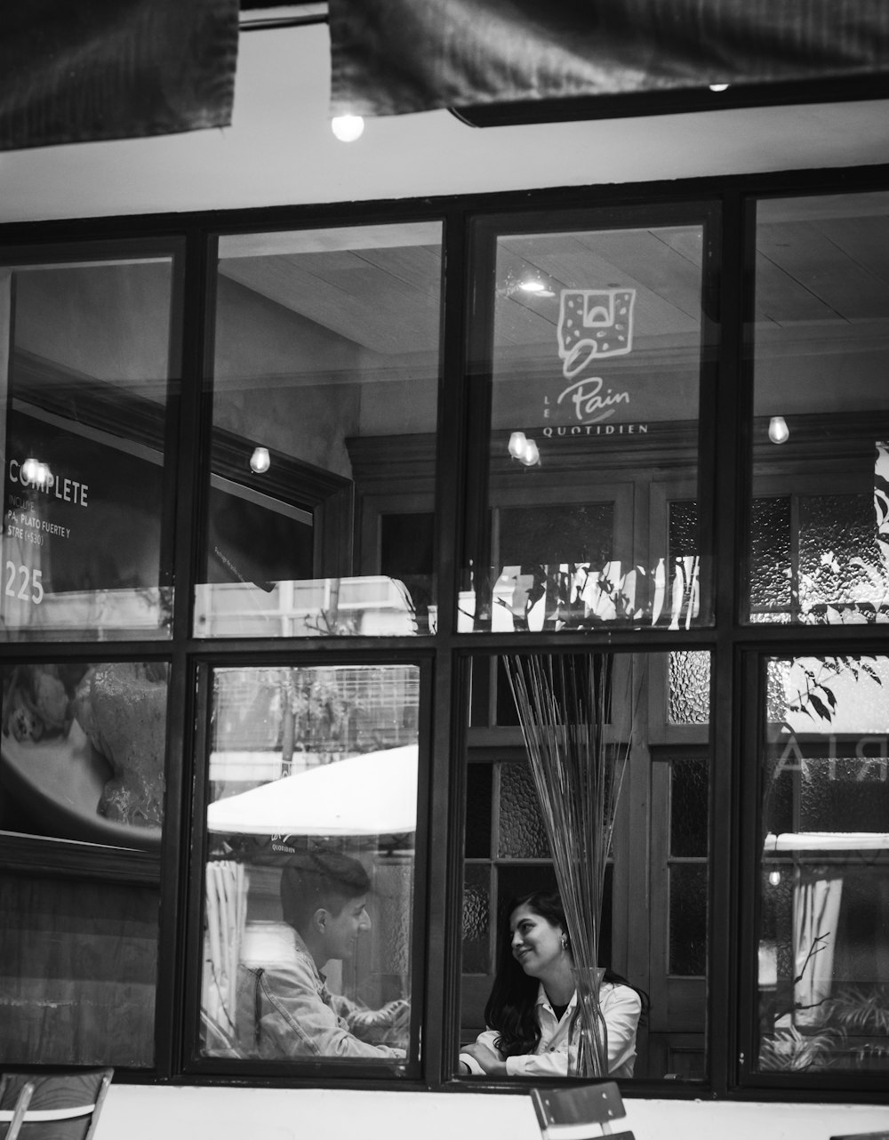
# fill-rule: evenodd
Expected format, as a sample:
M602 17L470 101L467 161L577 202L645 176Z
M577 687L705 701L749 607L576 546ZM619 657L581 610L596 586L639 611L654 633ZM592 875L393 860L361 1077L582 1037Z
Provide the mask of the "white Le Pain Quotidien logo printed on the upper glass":
M633 309L635 288L565 288L558 307L558 358L562 376L568 384L555 394L544 397L544 418L561 410L566 422L547 424L547 439L564 435L635 435L645 434L647 424L607 421L621 406L629 408L630 393L611 386L598 370L600 360L627 356L633 351Z

